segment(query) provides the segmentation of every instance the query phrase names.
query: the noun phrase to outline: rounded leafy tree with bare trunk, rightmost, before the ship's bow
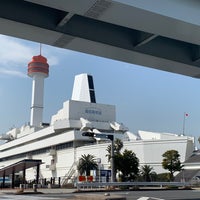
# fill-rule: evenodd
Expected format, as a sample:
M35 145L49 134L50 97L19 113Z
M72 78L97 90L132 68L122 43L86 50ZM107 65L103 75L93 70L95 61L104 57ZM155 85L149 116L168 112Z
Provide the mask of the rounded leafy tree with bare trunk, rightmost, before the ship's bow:
M162 166L170 172L170 181L174 180L174 172L181 171L180 154L176 150L168 150L162 155Z

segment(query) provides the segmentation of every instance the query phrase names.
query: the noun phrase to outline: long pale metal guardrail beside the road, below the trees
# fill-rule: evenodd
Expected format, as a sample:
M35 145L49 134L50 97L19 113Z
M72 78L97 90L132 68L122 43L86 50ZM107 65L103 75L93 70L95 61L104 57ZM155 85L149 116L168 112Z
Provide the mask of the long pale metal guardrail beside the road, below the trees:
M189 182L77 182L75 184L77 189L90 187L106 187L106 186L190 186Z

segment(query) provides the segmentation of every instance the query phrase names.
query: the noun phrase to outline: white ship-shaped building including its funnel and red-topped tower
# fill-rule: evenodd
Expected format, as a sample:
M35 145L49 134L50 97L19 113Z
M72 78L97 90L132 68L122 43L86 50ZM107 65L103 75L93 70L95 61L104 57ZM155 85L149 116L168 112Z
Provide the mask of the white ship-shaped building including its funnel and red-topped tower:
M157 173L164 172L162 154L178 150L184 162L194 150L194 138L168 133L139 131L137 135L116 122L114 105L96 103L93 77L80 74L75 77L72 98L63 103L49 124L42 122L44 78L48 64L41 55L29 63L28 75L33 77L30 125L14 128L1 136L0 168L6 168L24 159L40 159L39 178L58 180L61 184L77 176L77 162L83 154L92 154L101 162L100 169L109 169L106 154L110 144L106 139L82 136L84 131L113 134L123 141L124 149L132 150L140 165L150 165ZM26 179L36 178L36 168L26 170Z

